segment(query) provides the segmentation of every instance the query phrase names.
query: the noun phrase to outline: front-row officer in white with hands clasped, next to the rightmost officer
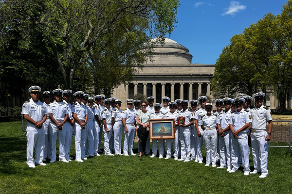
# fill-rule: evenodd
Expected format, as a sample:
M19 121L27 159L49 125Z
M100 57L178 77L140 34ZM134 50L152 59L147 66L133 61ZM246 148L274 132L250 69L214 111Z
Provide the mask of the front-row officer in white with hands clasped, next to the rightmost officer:
M229 173L234 173L238 171L238 148L241 153L242 166L244 175L247 176L250 174L249 166L249 146L247 140L248 128L252 123L252 116L250 111L243 109L243 102L245 99L237 97L234 99L237 111L231 115L229 122L229 128L232 131L233 138L232 142L232 152L231 160L233 168Z

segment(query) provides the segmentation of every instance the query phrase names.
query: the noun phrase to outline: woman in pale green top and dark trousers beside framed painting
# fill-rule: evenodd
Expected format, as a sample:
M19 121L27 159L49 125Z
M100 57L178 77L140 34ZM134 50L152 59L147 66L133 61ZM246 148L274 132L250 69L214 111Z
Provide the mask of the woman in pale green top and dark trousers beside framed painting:
M146 102L142 102L141 111L137 112L137 124L138 124L138 140L139 140L139 156L145 156L146 141L149 135L147 127L149 127L150 112L146 111Z

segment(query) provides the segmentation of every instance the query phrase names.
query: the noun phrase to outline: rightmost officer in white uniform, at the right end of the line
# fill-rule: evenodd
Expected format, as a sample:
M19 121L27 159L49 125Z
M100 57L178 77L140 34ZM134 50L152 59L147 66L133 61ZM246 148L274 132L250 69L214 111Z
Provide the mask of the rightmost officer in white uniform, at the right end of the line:
M272 113L263 105L265 94L258 92L253 95L256 107L251 110L252 115L252 150L255 170L251 174L261 172L259 178L266 178L268 171L268 146L273 129ZM269 124L267 133L266 125Z

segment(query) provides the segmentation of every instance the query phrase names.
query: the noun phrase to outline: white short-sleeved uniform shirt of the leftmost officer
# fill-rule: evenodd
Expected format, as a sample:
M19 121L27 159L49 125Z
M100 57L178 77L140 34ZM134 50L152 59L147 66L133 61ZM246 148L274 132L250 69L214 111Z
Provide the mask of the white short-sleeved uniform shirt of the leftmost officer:
M44 115L48 114L45 105L41 101L34 102L31 98L30 100L26 101L22 105L21 114L28 114L36 122L41 122ZM31 123L27 122L28 125Z

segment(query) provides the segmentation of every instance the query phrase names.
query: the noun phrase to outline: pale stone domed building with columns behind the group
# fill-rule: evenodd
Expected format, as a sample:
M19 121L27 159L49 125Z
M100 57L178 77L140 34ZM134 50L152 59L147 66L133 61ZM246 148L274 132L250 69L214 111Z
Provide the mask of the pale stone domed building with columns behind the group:
M210 96L215 65L192 64L192 58L186 47L165 38L164 45L155 46L152 60L146 62L133 81L114 88L112 96L124 103L138 93L155 97L156 103L161 103L164 96L171 101L197 99L201 93Z

